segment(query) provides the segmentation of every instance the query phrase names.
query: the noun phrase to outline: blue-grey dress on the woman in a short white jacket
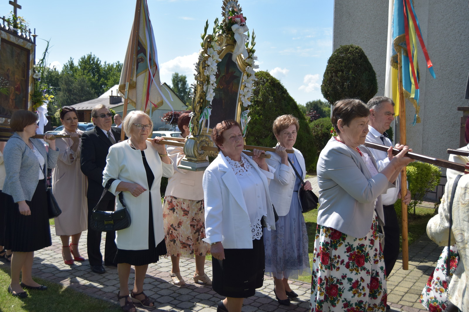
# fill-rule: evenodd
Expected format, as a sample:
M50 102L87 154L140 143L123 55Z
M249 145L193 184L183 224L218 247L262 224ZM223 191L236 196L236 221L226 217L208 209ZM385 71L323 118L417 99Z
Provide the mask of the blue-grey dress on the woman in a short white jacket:
M303 175L295 154L293 157L293 166ZM275 230L264 229L265 273L275 278L298 279L299 275L311 274L308 232L297 194L300 187L300 179L296 177L290 211L286 216L279 216Z

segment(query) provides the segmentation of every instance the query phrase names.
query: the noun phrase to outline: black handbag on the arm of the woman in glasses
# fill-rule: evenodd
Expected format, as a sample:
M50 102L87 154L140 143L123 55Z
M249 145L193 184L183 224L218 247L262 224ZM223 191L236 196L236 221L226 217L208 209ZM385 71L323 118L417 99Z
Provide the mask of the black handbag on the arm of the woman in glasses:
M130 226L130 214L124 204L122 192L119 193L119 201L123 209L117 211L97 210L101 199L103 199L113 181L115 181L115 179L109 179L109 181L107 181L103 194L101 194L101 198L99 198L96 207L93 208L93 212L91 213L90 228L94 231L113 232L126 229Z

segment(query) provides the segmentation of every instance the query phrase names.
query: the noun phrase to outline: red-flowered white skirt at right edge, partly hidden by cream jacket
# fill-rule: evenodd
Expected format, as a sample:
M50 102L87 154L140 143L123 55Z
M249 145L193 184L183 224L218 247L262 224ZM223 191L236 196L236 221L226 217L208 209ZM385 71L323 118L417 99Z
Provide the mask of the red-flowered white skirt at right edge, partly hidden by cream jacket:
M443 248L443 251L438 258L435 271L431 273L427 284L420 295L420 302L428 311L445 311L446 305L448 304L446 291L448 289L451 276L453 276L454 270L458 266L458 249L456 248L456 245L451 246L449 250L449 279L446 279L446 259L448 258L448 247L446 246Z

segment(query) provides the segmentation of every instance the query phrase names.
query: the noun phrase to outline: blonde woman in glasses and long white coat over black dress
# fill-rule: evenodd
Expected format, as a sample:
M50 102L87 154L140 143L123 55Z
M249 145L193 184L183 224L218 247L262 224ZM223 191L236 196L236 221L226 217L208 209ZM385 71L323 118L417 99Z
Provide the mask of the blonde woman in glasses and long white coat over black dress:
M124 119L123 129L128 140L114 144L109 149L104 168L103 186L109 179L109 191L123 194L123 202L129 210L131 224L116 232L117 263L121 289L117 294L124 311L136 311L133 302L144 307L155 304L143 292L143 283L149 263L166 254L163 232L163 210L159 192L161 177L174 173L173 163L165 145L158 144L163 138L151 142L153 123L142 111L132 111ZM123 209L117 201L116 210ZM129 298L130 266L135 266L135 283Z

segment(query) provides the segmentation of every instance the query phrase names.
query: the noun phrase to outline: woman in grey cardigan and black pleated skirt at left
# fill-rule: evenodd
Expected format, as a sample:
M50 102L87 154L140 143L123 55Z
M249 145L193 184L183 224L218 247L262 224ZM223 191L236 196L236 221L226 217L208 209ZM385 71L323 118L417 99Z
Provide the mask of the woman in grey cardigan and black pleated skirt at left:
M10 128L15 133L8 139L4 150L7 176L2 192L8 194L5 247L13 251L11 283L8 292L27 297L25 289L46 290L31 277L34 251L51 246L51 232L47 212L45 177L48 168L55 167L58 150L55 140L45 135L49 144L35 138L38 116L28 110L18 110L11 116ZM20 283L20 272L22 282Z

